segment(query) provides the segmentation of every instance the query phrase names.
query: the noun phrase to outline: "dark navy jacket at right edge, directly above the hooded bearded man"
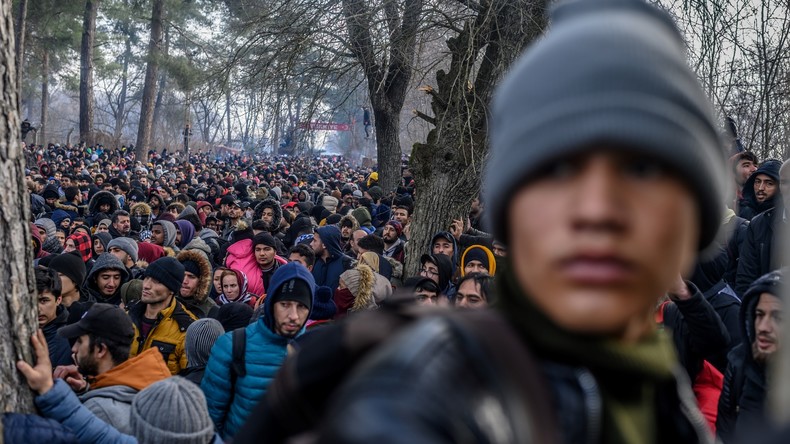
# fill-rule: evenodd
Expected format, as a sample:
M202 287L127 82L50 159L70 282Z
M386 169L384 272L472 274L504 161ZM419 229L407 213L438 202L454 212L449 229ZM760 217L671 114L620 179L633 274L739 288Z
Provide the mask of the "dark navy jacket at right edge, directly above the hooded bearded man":
M760 276L779 268L773 255L775 234L783 226L783 207L771 208L752 219L741 245L734 290L743 295Z

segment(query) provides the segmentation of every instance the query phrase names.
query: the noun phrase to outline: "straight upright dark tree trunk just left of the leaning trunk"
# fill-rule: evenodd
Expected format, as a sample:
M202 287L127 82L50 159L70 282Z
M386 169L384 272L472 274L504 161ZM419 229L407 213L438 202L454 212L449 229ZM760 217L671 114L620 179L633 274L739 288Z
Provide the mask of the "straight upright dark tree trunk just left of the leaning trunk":
M93 45L99 0L85 2L80 49L80 140L93 145Z

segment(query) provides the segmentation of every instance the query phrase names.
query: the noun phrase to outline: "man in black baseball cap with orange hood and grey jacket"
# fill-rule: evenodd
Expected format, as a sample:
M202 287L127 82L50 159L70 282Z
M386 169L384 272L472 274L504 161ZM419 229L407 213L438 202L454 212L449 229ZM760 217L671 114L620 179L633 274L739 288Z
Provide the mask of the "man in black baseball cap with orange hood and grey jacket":
M132 321L110 304L94 304L79 322L61 328L58 334L74 340L71 352L76 365L55 368L55 378L64 379L99 419L131 433L134 395L170 377L159 352L150 349L129 359Z

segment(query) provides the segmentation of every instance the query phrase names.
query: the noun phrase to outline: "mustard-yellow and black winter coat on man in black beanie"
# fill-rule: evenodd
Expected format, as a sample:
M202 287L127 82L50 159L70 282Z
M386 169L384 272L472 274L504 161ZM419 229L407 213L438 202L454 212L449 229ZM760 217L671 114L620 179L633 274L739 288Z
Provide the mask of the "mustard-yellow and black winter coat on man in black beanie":
M170 305L157 315L156 323L148 332L148 337L143 337L141 325L145 307L145 304L138 303L129 309L129 317L132 318L134 324L134 340L129 357L137 356L149 348L156 347L162 353L170 373L176 375L187 366L184 340L187 328L197 317L187 311L176 298L173 298Z

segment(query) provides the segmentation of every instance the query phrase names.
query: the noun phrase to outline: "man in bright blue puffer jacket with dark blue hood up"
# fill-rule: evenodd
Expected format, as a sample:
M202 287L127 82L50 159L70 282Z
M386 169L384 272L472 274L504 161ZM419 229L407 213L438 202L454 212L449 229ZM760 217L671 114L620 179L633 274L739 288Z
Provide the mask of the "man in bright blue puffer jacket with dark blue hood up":
M233 438L266 388L274 379L287 355L292 339L304 332L313 307L315 280L297 263L277 269L272 276L269 296L263 303L263 315L245 329L221 336L211 349L206 373L200 387L206 394L209 414L222 438ZM237 373L234 358L238 344L244 350ZM231 377L228 377L228 375Z

